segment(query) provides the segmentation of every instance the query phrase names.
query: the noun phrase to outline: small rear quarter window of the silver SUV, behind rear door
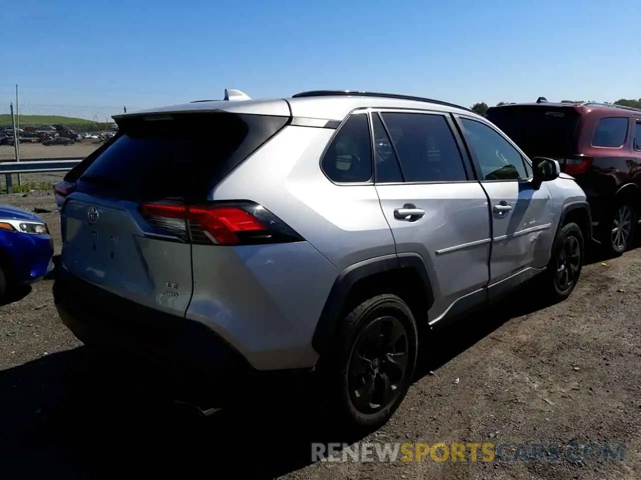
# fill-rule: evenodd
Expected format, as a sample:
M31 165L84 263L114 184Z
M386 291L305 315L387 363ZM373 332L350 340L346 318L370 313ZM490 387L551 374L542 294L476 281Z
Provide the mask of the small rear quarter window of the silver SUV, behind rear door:
M322 159L322 170L335 182L372 179L372 144L367 115L352 115L340 127Z

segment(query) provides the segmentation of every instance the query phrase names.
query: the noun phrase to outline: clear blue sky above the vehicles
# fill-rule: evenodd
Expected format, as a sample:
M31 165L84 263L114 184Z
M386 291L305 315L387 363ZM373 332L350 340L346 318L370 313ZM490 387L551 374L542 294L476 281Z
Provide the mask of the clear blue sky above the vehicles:
M0 104L16 83L24 104L130 108L224 88L465 106L638 98L639 12L619 0L0 0Z

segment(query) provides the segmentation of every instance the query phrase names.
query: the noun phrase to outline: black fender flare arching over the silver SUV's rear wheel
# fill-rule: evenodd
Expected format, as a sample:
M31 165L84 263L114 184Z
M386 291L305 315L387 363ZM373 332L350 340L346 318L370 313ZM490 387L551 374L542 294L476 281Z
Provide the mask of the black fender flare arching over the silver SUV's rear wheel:
M428 305L431 305L434 301L433 288L428 268L418 253L383 255L363 260L343 269L334 281L313 333L313 349L320 354L329 346L337 324L341 320L340 314L345 300L357 282L378 273L401 269L415 270L422 280Z

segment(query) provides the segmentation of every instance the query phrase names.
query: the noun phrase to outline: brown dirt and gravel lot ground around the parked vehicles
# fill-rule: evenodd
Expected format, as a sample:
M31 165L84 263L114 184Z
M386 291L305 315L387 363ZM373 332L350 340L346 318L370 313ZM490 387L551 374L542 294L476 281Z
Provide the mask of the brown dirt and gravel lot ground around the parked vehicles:
M0 203L53 210L44 192ZM54 212L44 212L58 236ZM267 479L641 478L641 249L592 260L572 297L524 291L433 336L408 397L367 442L626 444L626 460L311 462L311 442L354 442L306 401L248 399L204 422L149 396L146 376L96 369L58 322L51 281L0 307L0 477L111 478L144 472ZM23 292L26 294L26 292ZM433 374L427 372L433 371ZM455 379L459 379L455 383ZM229 467L229 468L226 468ZM233 469L233 470L231 470Z

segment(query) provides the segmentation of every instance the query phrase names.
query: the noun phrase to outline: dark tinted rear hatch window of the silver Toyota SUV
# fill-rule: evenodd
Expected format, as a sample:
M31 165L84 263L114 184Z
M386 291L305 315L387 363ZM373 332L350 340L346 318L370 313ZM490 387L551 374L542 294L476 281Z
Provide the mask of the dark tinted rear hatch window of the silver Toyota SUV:
M87 159L78 191L134 202L203 200L287 121L223 111L124 117L117 138Z

